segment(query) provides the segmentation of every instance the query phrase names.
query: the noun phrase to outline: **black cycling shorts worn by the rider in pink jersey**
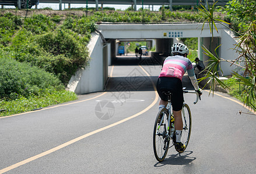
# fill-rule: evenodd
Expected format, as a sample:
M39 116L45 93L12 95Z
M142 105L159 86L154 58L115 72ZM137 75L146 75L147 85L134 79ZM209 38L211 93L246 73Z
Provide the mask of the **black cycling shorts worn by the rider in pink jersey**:
M159 77L156 83L157 93L164 101L168 101L168 96L163 94L163 91L170 91L171 105L174 111L180 111L183 107L183 85L179 78L176 77Z

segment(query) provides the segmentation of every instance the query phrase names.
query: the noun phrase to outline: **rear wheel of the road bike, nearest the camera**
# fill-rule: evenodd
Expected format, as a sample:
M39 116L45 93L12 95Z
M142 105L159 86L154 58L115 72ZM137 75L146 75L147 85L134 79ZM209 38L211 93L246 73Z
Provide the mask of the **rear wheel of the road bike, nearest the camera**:
M156 117L154 131L153 131L153 149L157 161L163 161L167 155L170 144L170 132L168 128L168 110L162 108ZM161 117L161 115L163 115ZM162 119L163 118L163 119ZM159 119L161 121L159 121Z

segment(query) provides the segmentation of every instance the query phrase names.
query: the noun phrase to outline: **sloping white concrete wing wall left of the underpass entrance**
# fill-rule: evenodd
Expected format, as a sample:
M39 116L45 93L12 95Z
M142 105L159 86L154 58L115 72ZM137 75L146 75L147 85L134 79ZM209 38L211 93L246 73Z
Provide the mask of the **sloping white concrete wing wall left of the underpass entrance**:
M106 81L104 77L106 76L107 68L103 68L103 41L100 36L93 33L87 47L89 49L89 56L91 57L89 66L78 70L76 74L71 77L67 86L68 90L78 95L101 91ZM108 59L106 59L106 61L107 60Z

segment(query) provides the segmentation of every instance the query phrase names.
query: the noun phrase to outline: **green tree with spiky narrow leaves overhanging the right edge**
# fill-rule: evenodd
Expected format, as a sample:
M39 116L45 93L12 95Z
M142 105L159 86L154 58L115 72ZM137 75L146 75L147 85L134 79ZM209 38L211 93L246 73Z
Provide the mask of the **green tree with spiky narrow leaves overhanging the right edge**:
M211 32L213 31L214 28L216 31L218 31L218 28L216 28L215 23L227 23L226 21L215 19L215 17L213 17L215 4L216 2L213 3L212 6L208 5L209 11L206 10L203 5L198 7L198 10L200 10L204 13L205 16L207 16L207 19L204 21L204 24L207 22L209 23L209 25L211 26ZM228 62L230 64L235 64L236 66L239 66L244 69L243 75L239 75L235 72L233 72L233 75L241 82L241 84L245 86L244 91L242 93L242 96L244 97L244 104L256 110L256 1L232 0L229 3L227 3L227 6L225 6L224 10L226 10L227 17L229 17L230 23L232 24L232 27L227 28L229 28L229 30L232 30L233 32L236 32L237 38L239 38L239 41L235 45L235 50L237 53L239 53L240 56ZM204 24L202 26L202 30L204 30ZM218 47L216 49L218 49ZM208 82L211 81L212 91L214 91L213 86L215 86L216 82L218 82L223 88L229 88L222 81L219 80L218 75L218 67L220 67L220 62L227 60L222 59L217 54L216 56L214 56L205 47L203 47L203 49L205 51L204 54L209 56L210 59L208 60L208 66L205 68L207 72L205 77L199 80L202 81L207 79ZM241 63L243 64L241 65ZM221 68L220 71L222 71Z

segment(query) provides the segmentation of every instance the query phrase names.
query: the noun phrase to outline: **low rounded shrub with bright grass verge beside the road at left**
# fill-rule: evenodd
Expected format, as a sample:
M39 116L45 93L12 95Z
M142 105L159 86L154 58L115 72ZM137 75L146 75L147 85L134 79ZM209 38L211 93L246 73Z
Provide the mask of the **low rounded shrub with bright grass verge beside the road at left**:
M10 58L0 59L1 117L77 99L53 74Z

